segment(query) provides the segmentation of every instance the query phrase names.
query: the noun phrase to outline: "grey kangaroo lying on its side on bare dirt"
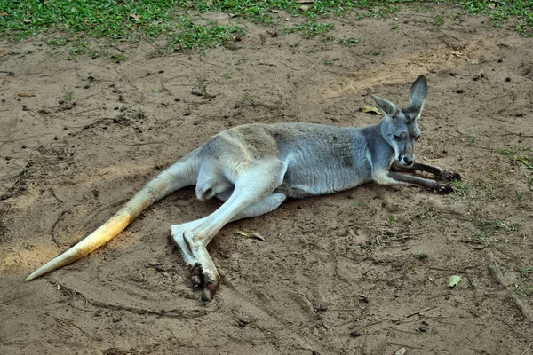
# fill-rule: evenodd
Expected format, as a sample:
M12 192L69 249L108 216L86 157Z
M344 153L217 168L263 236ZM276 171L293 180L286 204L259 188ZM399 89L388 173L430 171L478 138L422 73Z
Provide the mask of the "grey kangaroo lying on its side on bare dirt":
M171 226L172 238L190 267L193 287L203 288L203 304L211 302L220 282L206 247L229 222L263 215L289 197L336 193L370 181L417 184L452 193L449 185L405 174L426 171L442 180L460 179L456 173L415 162L415 142L420 137L417 120L426 94L426 78L419 76L405 108L372 96L385 116L370 127L253 123L220 132L163 170L104 225L26 280L86 256L121 233L155 201L187 185L196 185L201 201L211 197L224 201L207 217Z

